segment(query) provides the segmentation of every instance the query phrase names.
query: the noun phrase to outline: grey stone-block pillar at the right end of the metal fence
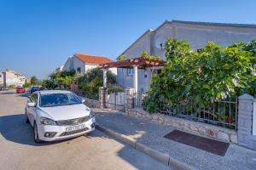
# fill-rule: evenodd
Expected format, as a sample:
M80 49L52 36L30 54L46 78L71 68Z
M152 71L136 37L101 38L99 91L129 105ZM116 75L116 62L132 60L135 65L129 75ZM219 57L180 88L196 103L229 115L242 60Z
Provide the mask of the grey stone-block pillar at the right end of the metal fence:
M238 97L237 144L256 150L256 135L253 135L253 96Z

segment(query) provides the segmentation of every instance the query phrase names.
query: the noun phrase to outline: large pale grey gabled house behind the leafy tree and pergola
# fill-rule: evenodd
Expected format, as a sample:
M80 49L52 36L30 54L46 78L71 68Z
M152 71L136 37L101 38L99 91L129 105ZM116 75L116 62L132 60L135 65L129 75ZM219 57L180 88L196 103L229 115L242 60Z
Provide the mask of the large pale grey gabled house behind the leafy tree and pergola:
M148 54L160 56L161 59L165 60L164 45L168 37L187 40L194 50L205 47L208 41L224 47L234 42L248 42L256 38L256 25L166 20L155 30L146 31L122 54L131 59L140 57L142 52L146 50ZM152 73L156 71L156 68L138 69L137 89L148 91ZM133 88L132 75L132 69L119 68L118 84L124 88Z

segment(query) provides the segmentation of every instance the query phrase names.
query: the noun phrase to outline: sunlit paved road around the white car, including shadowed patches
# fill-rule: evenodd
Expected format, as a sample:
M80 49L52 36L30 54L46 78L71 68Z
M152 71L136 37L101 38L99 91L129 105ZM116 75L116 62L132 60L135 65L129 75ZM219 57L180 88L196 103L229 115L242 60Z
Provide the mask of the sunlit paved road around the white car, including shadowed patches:
M26 97L0 92L0 169L169 169L160 161L97 131L35 144L24 122Z

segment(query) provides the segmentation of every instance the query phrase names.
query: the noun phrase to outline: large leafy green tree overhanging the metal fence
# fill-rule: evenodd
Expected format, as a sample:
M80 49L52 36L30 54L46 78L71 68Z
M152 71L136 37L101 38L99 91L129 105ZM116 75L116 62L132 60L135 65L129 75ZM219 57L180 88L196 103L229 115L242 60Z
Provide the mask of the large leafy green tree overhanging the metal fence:
M226 48L208 42L205 48L193 51L188 42L169 38L165 48L166 65L154 75L145 101L148 111L187 99L210 105L244 93L255 95L256 40Z

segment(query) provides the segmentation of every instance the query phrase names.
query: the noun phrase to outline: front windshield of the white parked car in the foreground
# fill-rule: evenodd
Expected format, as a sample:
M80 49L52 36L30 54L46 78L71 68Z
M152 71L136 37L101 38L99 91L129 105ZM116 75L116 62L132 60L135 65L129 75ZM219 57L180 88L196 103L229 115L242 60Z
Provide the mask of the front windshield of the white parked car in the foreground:
M61 105L77 105L82 104L79 97L72 93L67 94L41 94L40 95L41 107L53 107Z

